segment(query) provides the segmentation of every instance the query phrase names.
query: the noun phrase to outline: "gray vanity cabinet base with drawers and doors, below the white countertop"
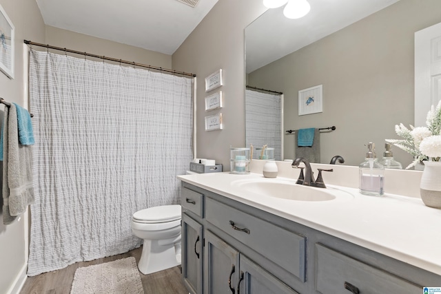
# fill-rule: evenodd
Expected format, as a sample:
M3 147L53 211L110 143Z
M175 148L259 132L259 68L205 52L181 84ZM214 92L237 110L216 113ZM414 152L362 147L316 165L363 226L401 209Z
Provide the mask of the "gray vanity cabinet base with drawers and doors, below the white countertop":
M440 275L186 182L182 200L183 279L192 294L411 294L441 286Z

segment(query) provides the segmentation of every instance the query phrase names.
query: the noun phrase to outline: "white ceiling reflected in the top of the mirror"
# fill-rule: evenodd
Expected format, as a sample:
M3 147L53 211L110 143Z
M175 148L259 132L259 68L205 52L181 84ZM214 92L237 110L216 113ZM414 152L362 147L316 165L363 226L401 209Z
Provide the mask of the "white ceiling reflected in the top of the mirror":
M308 0L311 10L301 19L287 19L283 8L267 10L245 29L246 71L253 72L397 1Z

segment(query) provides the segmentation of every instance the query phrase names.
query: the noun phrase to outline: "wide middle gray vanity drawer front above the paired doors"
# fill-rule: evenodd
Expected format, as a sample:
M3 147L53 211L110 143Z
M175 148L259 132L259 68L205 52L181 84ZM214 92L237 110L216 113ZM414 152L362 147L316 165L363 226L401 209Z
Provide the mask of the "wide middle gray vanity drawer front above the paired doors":
M304 236L212 198L205 199L205 216L214 226L295 275L301 282L305 282L306 238Z

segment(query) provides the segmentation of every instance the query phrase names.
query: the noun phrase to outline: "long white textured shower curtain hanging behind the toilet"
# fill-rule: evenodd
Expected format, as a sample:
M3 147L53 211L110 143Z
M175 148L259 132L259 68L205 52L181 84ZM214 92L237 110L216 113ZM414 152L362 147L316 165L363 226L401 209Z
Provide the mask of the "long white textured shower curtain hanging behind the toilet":
M132 213L178 204L192 154L185 78L30 52L36 144L28 275L139 247Z

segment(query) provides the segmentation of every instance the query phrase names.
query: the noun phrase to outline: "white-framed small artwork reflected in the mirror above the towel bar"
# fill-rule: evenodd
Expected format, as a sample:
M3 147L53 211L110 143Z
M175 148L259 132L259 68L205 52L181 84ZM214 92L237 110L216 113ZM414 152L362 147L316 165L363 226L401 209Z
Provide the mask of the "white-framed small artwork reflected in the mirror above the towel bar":
M298 115L323 112L323 85L309 87L298 92Z

